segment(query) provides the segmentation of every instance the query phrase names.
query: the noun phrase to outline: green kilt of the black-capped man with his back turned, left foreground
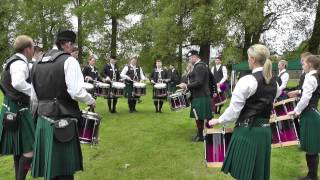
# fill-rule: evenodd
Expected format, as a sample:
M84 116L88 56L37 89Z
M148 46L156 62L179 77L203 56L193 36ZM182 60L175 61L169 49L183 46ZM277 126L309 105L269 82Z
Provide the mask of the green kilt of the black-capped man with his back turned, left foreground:
M73 175L83 170L82 152L78 133L65 143L58 142L53 134L54 127L43 117L38 117L32 176L46 180L59 175Z

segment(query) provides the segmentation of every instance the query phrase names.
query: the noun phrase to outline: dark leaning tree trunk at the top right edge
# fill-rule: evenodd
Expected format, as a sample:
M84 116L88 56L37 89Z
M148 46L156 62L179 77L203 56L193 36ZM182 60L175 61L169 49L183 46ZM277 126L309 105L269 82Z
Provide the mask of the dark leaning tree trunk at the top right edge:
M320 43L320 1L317 6L316 20L314 22L313 31L309 40L309 52L312 54L318 54L319 43Z

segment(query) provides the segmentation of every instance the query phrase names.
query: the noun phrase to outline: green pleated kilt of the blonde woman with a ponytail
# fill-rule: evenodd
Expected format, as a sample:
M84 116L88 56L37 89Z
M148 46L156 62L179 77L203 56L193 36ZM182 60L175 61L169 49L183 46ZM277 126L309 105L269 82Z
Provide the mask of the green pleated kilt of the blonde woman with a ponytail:
M237 180L269 180L271 157L270 127L234 129L222 166Z

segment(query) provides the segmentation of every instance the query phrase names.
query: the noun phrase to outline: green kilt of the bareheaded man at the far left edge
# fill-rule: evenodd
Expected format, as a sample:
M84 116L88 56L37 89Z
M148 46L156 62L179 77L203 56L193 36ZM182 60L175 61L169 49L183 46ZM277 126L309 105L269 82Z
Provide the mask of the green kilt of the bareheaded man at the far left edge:
M0 154L20 155L33 151L35 122L27 105L20 105L4 96L0 113ZM6 111L16 113L21 109L18 118L19 127L16 131L8 131L3 127L3 118Z

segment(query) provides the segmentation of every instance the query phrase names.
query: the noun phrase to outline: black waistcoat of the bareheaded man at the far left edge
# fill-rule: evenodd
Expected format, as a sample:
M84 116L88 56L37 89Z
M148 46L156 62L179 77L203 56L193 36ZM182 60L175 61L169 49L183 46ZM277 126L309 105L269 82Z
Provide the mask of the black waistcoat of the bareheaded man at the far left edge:
M23 62L25 62L23 59L21 59L17 55L13 55L8 60L6 60L3 72L2 72L2 75L1 75L1 90L11 100L19 102L19 103L23 103L23 104L29 104L30 103L30 97L27 96L26 94L16 90L14 87L12 87L10 66L15 61L23 61ZM30 74L29 74L28 79L26 79L26 81L28 83L30 83Z

